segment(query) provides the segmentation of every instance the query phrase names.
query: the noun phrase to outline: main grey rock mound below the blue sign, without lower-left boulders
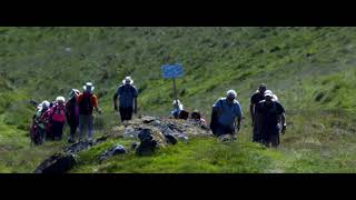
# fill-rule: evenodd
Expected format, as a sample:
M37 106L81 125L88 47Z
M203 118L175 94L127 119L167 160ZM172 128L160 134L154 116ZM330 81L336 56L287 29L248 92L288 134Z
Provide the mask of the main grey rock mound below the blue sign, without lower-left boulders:
M138 156L149 156L158 148L187 142L189 137L211 137L208 128L195 121L176 120L155 117L141 117L115 127L111 136L139 139L140 143L132 144Z

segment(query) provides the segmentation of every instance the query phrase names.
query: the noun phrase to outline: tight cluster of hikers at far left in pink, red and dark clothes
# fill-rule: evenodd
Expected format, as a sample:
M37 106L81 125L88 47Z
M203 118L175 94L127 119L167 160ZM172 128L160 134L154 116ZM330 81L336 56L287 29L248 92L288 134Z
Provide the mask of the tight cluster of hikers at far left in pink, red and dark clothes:
M59 141L62 139L63 127L67 121L70 128L68 142L76 142L75 136L79 128L78 139L82 140L85 130L88 130L87 139L92 139L93 117L92 111L101 113L98 108L98 99L92 93L95 87L91 82L83 86L83 91L72 89L68 101L65 97L57 97L56 101L47 100L37 104L31 126L31 142L41 144L43 141Z

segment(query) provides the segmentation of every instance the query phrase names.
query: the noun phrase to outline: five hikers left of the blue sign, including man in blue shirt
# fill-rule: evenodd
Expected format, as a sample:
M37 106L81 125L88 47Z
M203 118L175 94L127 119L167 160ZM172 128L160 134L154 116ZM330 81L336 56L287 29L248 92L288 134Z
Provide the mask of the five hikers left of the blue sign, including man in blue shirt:
M70 128L69 143L76 142L78 128L78 140L83 140L83 133L87 130L87 141L91 141L93 111L102 113L93 90L92 82L87 82L82 92L72 89L67 102L65 97L58 97L52 103L47 100L39 104L36 103L37 112L33 116L30 131L31 141L34 144L41 144L48 140L61 140L66 122ZM121 121L131 120L132 113L137 113L137 97L138 90L134 86L134 80L131 77L126 77L113 96L113 108L120 112ZM119 107L117 106L118 100Z

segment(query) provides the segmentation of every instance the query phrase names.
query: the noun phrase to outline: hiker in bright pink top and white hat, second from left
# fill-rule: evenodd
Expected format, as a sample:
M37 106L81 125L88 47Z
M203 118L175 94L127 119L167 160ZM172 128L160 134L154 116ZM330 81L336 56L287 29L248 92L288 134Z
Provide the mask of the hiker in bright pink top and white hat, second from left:
M61 140L63 134L63 126L66 123L66 99L58 97L56 103L49 110L51 133L55 140Z

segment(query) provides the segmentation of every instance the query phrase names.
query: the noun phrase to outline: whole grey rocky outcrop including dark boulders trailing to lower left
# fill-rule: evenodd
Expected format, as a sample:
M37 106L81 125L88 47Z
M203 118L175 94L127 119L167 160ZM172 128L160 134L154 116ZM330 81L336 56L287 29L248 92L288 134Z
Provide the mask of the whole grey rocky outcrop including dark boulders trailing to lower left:
M63 173L72 169L77 163L76 154L88 150L109 138L131 138L139 142L131 144L131 149L138 156L149 156L156 149L166 148L177 142L188 142L189 137L212 137L208 128L202 127L195 121L177 120L158 117L141 117L127 121L123 126L113 127L112 130L93 141L80 141L63 149L60 153L55 153L46 159L34 170L36 173ZM122 146L115 146L103 151L99 157L99 162L117 154L126 153Z

